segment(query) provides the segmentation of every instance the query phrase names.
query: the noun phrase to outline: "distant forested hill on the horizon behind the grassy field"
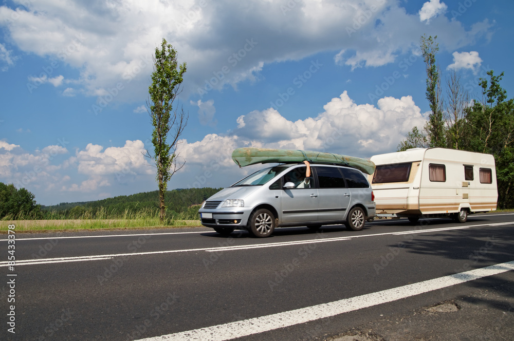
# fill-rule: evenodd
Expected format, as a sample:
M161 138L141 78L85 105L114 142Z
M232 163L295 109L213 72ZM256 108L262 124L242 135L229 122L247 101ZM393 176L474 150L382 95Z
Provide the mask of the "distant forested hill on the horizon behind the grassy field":
M204 202L211 195L222 188L187 188L168 191L166 193L166 206L170 214L192 211L193 206ZM159 208L159 192L143 192L132 195L122 195L96 201L62 202L58 205L42 206L46 215L53 213L66 217L82 217L87 212L95 216L101 212L102 216L115 217L126 212L132 214L141 212L148 215L157 212ZM194 207L197 210L198 207Z

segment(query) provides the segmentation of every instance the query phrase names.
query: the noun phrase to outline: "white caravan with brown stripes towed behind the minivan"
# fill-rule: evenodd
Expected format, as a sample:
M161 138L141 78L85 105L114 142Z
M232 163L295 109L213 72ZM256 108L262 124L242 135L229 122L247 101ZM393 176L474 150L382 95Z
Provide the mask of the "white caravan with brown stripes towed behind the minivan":
M376 216L448 216L495 211L498 201L494 157L447 148L414 148L371 157L369 176Z

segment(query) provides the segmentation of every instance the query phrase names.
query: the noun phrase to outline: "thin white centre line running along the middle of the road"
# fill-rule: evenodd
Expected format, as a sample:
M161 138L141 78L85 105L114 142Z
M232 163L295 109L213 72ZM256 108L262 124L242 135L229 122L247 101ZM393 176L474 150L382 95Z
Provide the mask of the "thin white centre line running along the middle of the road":
M511 223L513 223L513 222L506 222L506 223L501 223L501 224L505 225L505 224L511 224ZM457 230L457 229L462 230L462 229L469 229L469 228L476 227L476 226L495 226L495 225L497 225L497 224L494 224L494 223L493 224L480 224L480 225L469 225L469 226L460 226L460 227L452 227L452 228L415 230L415 231L407 231L407 232L388 232L388 233L377 233L377 234L360 235L360 236L345 236L345 237L336 237L336 238L316 238L316 239L299 240L299 241L285 241L285 242L276 242L276 243L234 245L232 247L221 246L221 247L214 247L214 248L164 250L164 251L151 251L151 252L133 252L133 253L118 253L118 254L109 254L109 255L78 256L78 257L27 259L27 260L17 260L16 265L21 266L21 265L33 265L33 264L62 263L67 260L68 261L101 260L101 259L109 259L109 258L120 257L120 256L142 256L142 255L156 255L156 254L194 252L194 251L196 251L196 252L198 252L198 251L222 252L222 251L248 250L248 249L258 249L258 248L273 248L273 247L281 247L281 246L288 246L288 245L301 245L301 244L309 244L309 243L322 243L322 242L329 242L329 241L351 240L353 238L429 233L429 232L450 231L450 230ZM190 232L187 232L187 233L190 233ZM16 241L17 240L18 239L16 239ZM8 265L9 265L9 261L0 261L0 267L7 267Z

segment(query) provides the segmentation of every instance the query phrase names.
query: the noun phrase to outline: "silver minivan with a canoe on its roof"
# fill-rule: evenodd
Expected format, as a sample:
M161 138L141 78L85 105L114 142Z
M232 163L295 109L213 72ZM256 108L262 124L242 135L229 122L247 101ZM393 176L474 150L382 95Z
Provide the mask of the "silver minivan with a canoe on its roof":
M359 231L375 216L372 188L358 169L314 163L306 172L304 163L261 169L207 199L201 224L223 235L238 229L268 237L279 226L344 223Z

